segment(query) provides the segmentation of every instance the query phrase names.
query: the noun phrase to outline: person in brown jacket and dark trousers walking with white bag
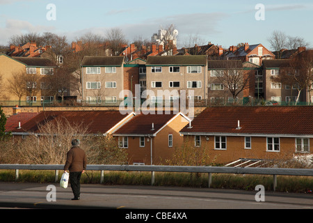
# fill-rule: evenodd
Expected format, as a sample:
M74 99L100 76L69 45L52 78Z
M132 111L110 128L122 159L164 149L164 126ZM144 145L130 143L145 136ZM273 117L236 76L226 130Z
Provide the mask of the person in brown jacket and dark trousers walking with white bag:
M79 147L79 139L72 140L72 148L67 152L64 172L70 171L70 184L74 198L79 200L81 194L81 174L85 172L87 157L85 151Z

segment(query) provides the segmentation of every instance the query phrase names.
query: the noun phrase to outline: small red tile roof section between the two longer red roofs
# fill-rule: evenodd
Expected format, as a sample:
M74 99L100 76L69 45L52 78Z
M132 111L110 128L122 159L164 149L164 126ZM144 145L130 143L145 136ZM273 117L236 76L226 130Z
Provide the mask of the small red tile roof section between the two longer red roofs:
M177 114L138 114L114 132L113 135L155 134L175 115ZM153 130L152 123L154 126Z

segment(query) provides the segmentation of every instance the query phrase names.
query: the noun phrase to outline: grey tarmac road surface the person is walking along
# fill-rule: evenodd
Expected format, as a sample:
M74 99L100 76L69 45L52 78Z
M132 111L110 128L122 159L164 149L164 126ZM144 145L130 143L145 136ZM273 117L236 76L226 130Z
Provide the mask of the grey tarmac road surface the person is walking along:
M49 185L54 185L55 190L49 189ZM63 189L58 183L0 182L0 207L181 211L188 209L309 209L311 211L313 209L313 194L265 191L265 201L256 201L256 194L257 191L211 188L81 185L81 199L72 201L70 185Z

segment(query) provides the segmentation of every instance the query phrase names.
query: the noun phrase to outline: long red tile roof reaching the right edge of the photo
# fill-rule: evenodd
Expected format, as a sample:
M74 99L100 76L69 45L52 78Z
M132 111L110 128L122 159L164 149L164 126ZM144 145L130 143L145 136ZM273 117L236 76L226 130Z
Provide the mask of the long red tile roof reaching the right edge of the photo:
M240 122L240 129L236 129ZM180 132L186 134L313 135L313 107L209 107Z

